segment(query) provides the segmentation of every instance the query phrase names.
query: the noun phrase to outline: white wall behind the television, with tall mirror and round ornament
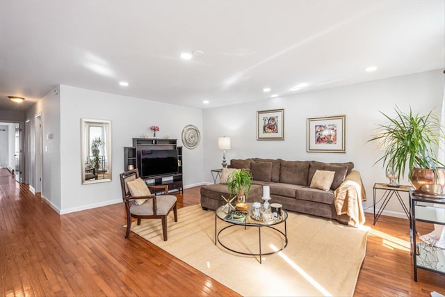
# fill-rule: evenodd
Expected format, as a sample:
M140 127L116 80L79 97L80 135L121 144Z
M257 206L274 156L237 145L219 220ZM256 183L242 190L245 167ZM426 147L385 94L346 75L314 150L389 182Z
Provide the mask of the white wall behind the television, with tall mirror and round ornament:
M202 131L202 110L176 106L146 99L126 97L60 86L60 152L61 155L61 213L122 202L119 174L124 171L124 146L132 145L132 138L142 134L152 136L149 127L159 126L157 137L177 138L181 131L193 124ZM112 126L112 182L81 184L81 118L111 120ZM202 143L195 150L183 149L184 186L202 183Z

